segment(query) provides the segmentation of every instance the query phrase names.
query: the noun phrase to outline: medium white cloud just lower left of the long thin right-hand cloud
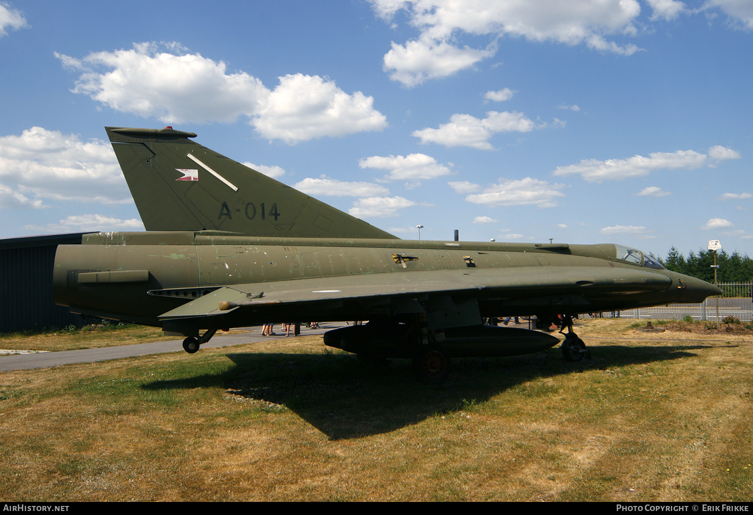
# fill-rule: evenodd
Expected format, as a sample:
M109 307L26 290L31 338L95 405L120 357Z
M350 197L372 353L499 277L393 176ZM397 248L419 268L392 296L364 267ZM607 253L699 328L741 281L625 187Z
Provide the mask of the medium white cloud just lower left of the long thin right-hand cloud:
M471 194L465 200L484 206L526 206L535 205L540 208L556 206L556 197L565 195L558 190L564 184L550 184L526 177L520 180L500 181L499 184L487 186L479 194Z

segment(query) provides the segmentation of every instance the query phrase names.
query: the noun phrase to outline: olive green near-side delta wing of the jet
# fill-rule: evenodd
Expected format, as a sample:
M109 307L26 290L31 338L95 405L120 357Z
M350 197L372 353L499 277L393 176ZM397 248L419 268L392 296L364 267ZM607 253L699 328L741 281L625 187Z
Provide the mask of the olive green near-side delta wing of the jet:
M643 270L607 267L536 267L497 270L430 270L227 285L160 315L160 320L232 316L249 321L281 313L358 304L361 312L431 311L425 301L517 300L535 297L639 294L660 291L672 279ZM440 304L444 301L439 301ZM436 304L436 302L434 302ZM328 308L329 306L329 308ZM268 314L268 315L267 315ZM295 315L293 315L295 316ZM290 315L288 315L290 318Z

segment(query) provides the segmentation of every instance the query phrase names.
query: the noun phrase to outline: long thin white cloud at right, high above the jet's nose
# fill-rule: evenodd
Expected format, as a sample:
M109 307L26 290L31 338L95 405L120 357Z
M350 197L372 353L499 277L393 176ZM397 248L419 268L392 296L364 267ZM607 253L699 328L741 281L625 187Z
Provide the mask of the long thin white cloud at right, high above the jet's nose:
M606 180L621 181L630 177L643 177L654 170L694 169L703 165L714 166L714 161L737 159L739 154L731 148L721 146L709 149L709 155L696 151L654 152L648 157L633 156L628 159L581 160L577 165L557 166L553 175L581 175L586 181L601 182Z

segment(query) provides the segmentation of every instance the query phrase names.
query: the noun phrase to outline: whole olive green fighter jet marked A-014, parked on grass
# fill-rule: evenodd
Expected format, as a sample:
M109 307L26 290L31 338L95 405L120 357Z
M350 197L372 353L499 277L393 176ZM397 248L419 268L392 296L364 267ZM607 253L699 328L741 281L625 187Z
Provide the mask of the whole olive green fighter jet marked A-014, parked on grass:
M172 130L106 127L147 232L59 245L55 302L163 328L197 352L219 329L367 320L325 334L371 361L413 358L441 381L450 359L518 355L559 339L482 325L562 315L567 360L587 356L581 313L700 303L721 291L623 245L398 239Z

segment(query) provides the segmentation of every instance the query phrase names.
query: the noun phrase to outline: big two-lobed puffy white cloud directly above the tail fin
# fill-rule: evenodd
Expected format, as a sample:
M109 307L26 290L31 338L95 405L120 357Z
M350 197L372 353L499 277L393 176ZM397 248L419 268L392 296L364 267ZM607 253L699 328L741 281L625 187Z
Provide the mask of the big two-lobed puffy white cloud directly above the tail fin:
M224 62L186 53L177 43L164 47L139 43L83 59L55 56L82 72L74 93L165 123L232 123L247 117L260 136L291 145L387 126L373 108L373 97L360 91L349 95L319 75L285 75L269 90L252 75L227 72Z

